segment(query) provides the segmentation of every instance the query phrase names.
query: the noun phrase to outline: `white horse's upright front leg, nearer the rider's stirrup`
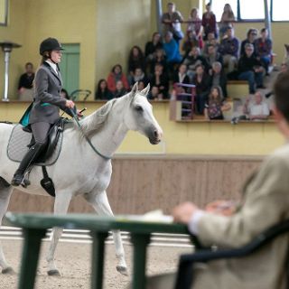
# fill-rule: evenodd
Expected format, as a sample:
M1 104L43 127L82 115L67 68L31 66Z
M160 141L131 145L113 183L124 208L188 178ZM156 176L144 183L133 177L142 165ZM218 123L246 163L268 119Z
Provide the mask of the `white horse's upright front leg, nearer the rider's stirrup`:
M68 191L61 191L57 193L54 201L54 214L66 214L70 206L70 200L71 195ZM62 231L62 228L52 229L51 245L46 256L46 261L48 262L48 275L60 275L60 272L54 263L54 255L58 241L61 238Z

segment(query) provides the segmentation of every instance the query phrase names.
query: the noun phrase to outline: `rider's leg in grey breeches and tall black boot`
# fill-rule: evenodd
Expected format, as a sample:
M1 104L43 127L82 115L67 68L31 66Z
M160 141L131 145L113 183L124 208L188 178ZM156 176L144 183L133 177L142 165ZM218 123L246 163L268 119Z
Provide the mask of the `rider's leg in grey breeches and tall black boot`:
M11 182L14 186L19 186L23 182L23 175L28 166L33 163L36 158L42 153L43 148L46 144L47 135L51 124L49 123L35 123L31 125L33 130L33 136L35 138L35 144L30 150L24 155L17 171L14 173L13 180Z

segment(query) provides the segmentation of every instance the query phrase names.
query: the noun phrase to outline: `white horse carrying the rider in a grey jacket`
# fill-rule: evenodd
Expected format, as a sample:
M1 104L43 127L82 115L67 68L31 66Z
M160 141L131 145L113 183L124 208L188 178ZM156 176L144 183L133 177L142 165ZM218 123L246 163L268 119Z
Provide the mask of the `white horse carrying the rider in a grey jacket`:
M152 106L146 95L149 85L138 91L135 84L132 91L122 98L112 99L100 107L89 117L85 117L78 126L64 131L61 154L56 163L47 167L54 182L54 213L65 214L72 197L81 195L100 215L113 216L107 200L107 186L111 178L111 162L103 156L111 157L122 143L128 130L135 130L148 137L151 144L158 144L163 135L162 128L154 118ZM13 187L10 185L18 163L10 161L6 155L6 147L13 125L0 124L0 225L7 210ZM98 150L100 156L88 143ZM47 195L42 189L42 168L34 166L30 174L31 184L18 190ZM47 254L48 275L59 275L54 264L54 253L62 229L53 228L51 246ZM116 245L117 271L126 275L125 252L119 231L113 232ZM5 260L0 244L0 266L2 273L13 273L13 269Z

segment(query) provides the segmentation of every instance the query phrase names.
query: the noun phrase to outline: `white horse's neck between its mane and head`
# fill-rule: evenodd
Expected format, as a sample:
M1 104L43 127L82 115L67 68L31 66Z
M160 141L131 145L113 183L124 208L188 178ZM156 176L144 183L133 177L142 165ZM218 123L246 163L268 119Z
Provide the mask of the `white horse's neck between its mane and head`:
M91 137L91 141L96 145L101 154L113 155L119 145L126 137L128 131L123 121L124 110L116 104L110 112L105 126Z

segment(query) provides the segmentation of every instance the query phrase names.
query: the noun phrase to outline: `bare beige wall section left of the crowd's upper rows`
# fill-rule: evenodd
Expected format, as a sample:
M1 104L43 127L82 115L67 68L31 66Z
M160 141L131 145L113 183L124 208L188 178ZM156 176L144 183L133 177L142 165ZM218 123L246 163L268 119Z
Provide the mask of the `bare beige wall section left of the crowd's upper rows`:
M151 0L97 1L97 73L107 79L119 63L127 70L128 54L134 45L144 48L151 37ZM152 3L152 4L151 4Z

